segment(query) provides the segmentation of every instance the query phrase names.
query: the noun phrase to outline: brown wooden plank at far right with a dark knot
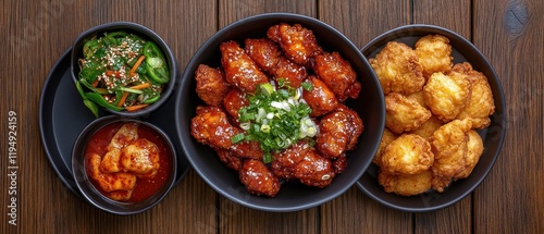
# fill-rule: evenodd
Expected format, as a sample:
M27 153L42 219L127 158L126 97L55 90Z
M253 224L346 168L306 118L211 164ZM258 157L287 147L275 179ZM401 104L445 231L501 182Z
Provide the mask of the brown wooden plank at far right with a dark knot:
M473 195L474 233L544 232L542 12L537 0L474 1L473 41L495 67L507 107L499 158Z

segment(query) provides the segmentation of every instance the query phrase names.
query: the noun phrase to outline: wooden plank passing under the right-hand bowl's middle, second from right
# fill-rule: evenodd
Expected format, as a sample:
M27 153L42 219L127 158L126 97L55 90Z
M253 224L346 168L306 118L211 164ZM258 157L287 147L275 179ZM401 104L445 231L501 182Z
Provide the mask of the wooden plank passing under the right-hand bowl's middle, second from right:
M413 0L413 23L432 24L471 38L471 1ZM472 225L471 196L443 210L415 215L416 233L470 233Z

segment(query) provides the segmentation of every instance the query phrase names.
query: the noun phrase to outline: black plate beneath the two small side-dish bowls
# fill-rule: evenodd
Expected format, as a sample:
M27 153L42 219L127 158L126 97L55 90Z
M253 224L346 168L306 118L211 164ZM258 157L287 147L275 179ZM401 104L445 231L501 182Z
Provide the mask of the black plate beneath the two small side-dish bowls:
M71 51L72 49L69 49L61 56L44 84L39 101L39 130L44 149L51 167L69 189L81 196L72 176L72 148L77 135L95 120L95 116L83 104L72 81L70 74ZM100 112L100 116L108 114L110 113L106 111ZM145 121L162 128L174 143L178 167L177 184L188 171L189 163L183 155L180 144L176 144L180 140L175 128L175 98L171 97L164 106L145 118Z

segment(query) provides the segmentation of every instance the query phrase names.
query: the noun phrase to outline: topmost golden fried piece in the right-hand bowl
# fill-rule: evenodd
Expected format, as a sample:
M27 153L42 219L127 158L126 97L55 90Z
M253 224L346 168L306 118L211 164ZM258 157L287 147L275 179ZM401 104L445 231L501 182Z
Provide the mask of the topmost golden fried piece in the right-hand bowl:
M435 72L447 73L452 70L454 57L449 39L442 35L426 35L416 42L416 54L423 67L423 76Z

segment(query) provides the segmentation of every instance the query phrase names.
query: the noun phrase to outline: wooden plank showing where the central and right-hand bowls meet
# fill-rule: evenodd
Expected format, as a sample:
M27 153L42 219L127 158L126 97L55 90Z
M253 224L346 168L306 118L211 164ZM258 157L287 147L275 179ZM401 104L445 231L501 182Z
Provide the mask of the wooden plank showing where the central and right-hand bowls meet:
M356 46L410 21L410 2L319 2L319 19L345 34ZM388 209L363 196L357 187L321 207L322 233L411 233L412 215Z

